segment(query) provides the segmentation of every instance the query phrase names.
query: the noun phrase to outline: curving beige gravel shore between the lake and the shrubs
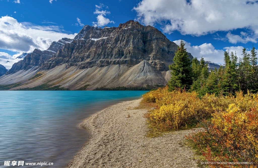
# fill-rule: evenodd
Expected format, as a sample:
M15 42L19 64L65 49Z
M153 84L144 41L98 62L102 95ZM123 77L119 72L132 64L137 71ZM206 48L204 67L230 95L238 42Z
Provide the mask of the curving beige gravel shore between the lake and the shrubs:
M191 149L183 145L185 135L193 130L147 138L143 117L147 110L133 110L140 101L122 102L87 118L81 126L91 132L91 137L67 168L198 167Z

